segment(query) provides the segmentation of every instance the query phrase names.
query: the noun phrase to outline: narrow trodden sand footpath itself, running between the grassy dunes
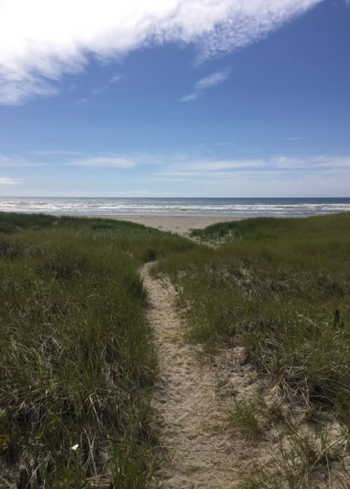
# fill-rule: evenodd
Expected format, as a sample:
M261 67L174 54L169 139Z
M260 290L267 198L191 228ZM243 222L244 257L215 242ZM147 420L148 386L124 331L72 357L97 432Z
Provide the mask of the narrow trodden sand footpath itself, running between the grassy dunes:
M149 268L144 266L142 276L160 361L153 408L166 449L158 483L166 488L231 488L237 481L237 446L225 429L227 406L218 395L216 369L199 362L193 346L181 339L176 291L168 280L151 278ZM248 376L235 375L248 388ZM232 369L225 376L226 383L235 381Z

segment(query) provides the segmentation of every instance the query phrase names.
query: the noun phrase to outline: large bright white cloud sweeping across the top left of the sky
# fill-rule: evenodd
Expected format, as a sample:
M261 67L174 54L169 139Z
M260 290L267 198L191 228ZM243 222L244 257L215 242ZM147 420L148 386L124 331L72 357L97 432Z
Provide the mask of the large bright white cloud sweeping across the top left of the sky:
M266 36L322 0L2 0L0 102L57 93L65 73L167 42L195 43L198 60Z

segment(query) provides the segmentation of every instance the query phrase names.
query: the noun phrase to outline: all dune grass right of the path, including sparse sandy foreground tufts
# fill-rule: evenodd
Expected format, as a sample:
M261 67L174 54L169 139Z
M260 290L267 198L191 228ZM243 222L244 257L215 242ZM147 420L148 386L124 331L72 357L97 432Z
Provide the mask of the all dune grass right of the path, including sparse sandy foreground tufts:
M245 467L239 487L349 487L350 215L255 218L192 236L215 247L158 264L179 290L188 340L209 353L244 346L278 392L269 407L232 399L232 433L263 445L278 425L283 439L271 467Z

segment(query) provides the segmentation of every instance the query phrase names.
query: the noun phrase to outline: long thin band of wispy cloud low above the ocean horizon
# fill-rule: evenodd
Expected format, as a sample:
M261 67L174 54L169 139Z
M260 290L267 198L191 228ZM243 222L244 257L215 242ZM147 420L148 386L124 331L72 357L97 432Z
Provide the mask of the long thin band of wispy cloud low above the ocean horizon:
M243 176L244 178L295 178L296 176L321 176L337 173L339 179L350 176L350 155L330 156L313 155L293 157L276 155L269 158L232 158L215 157L191 158L179 153L107 153L87 155L79 151L43 150L34 151L29 156L3 155L0 153L0 168L69 166L84 169L139 169L147 168L150 175L157 178L204 178L225 179Z

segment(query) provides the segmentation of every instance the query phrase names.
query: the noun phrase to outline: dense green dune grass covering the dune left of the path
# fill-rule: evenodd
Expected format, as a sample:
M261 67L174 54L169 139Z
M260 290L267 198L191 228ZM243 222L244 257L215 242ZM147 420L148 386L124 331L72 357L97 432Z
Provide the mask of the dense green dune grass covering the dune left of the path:
M0 486L148 486L157 359L137 269L193 243L49 215L0 230Z

